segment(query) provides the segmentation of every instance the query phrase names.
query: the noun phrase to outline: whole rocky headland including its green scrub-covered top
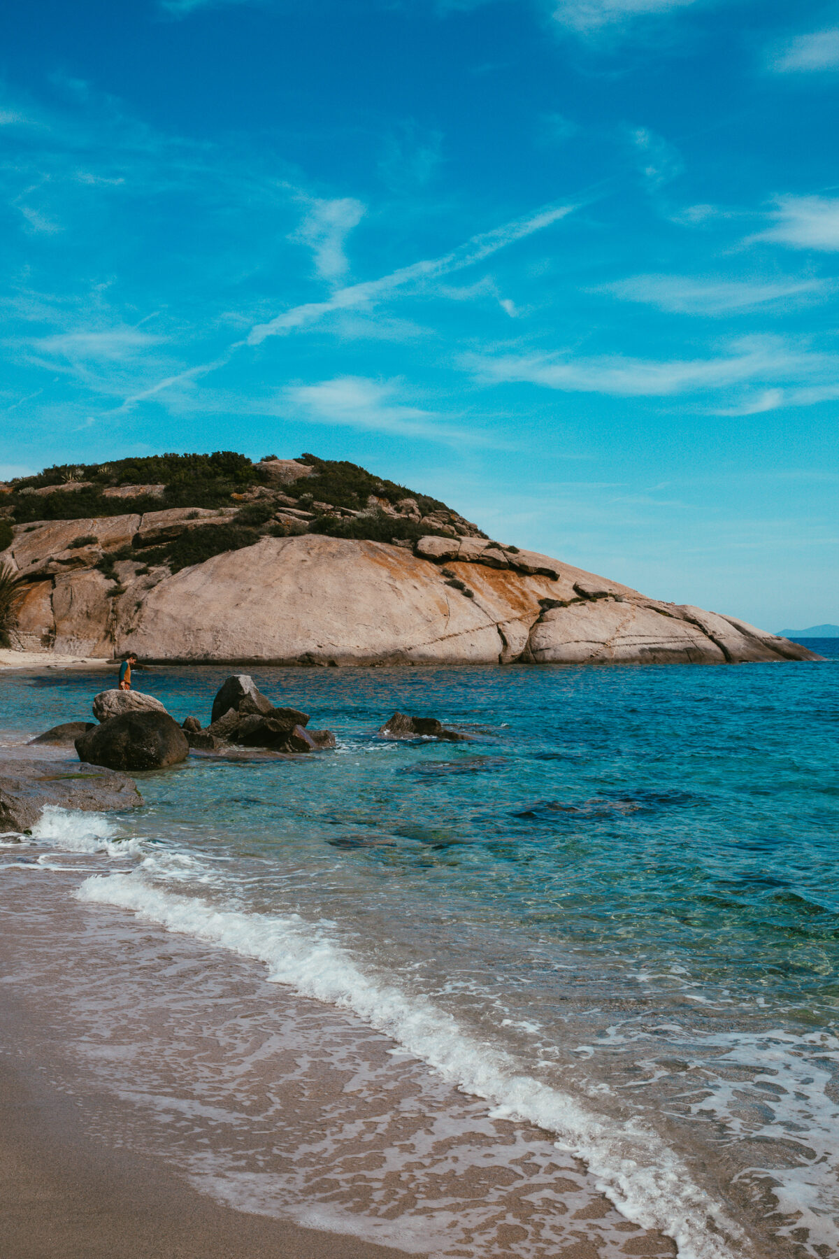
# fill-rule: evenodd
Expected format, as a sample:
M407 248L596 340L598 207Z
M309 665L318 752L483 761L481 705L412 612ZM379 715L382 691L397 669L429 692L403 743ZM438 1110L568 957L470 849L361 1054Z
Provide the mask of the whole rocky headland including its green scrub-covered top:
M214 462L215 461L215 462ZM351 463L160 456L3 487L9 645L272 665L819 658L487 538Z

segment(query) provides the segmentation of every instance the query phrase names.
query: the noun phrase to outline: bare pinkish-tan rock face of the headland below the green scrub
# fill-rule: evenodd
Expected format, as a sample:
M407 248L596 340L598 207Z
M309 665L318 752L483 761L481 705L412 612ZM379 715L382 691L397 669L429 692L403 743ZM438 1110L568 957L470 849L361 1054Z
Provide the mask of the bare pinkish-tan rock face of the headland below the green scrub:
M411 519L413 501L404 504ZM122 540L148 543L172 529L223 524L226 510L15 526L0 560L26 578L20 647L275 665L818 658L735 617L662 603L454 526L452 536L423 536L413 550L317 534L264 536L175 575L119 560L117 587L89 567L86 546L70 546L94 535L91 554L107 556Z

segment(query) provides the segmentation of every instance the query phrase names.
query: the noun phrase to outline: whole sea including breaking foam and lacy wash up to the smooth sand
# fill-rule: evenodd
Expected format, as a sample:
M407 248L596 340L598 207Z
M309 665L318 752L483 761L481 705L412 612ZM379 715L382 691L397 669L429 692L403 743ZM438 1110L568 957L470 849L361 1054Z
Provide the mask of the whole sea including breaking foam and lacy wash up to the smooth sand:
M126 983L132 938L171 940L131 1104L221 1201L439 1256L839 1255L839 642L806 646L825 658L254 666L335 750L192 754L137 774L131 813L48 810L0 840L0 891L58 889ZM135 684L208 724L230 672ZM5 674L0 752L103 685ZM395 710L469 742L381 738Z

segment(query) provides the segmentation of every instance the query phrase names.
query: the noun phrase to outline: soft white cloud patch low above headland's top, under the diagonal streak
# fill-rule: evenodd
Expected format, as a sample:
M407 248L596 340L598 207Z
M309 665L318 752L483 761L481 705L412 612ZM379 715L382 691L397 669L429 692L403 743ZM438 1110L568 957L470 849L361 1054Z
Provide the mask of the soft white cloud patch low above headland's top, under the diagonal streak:
M478 434L453 429L434 412L399 402L401 383L367 376L337 376L313 385L293 385L284 398L306 419L396 437L425 437L445 443L475 441Z

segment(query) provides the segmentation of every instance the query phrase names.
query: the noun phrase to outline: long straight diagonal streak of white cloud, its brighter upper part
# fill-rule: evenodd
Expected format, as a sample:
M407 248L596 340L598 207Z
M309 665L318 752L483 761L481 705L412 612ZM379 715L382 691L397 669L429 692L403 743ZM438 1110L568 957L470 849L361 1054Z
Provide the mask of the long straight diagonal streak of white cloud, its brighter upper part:
M340 288L332 297L323 302L306 302L284 311L267 324L257 324L248 335L249 345L259 345L268 336L283 336L299 327L307 327L319 322L333 311L350 310L358 306L370 306L384 297L390 296L399 288L408 288L411 285L426 283L455 271L472 267L484 258L491 257L499 249L514 244L525 237L541 232L553 223L558 223L574 209L572 205L548 206L526 218L513 219L503 227L494 228L472 237L464 244L458 246L450 253L439 258L428 258L423 262L411 263L392 271L379 279L369 279L360 285L351 285Z

